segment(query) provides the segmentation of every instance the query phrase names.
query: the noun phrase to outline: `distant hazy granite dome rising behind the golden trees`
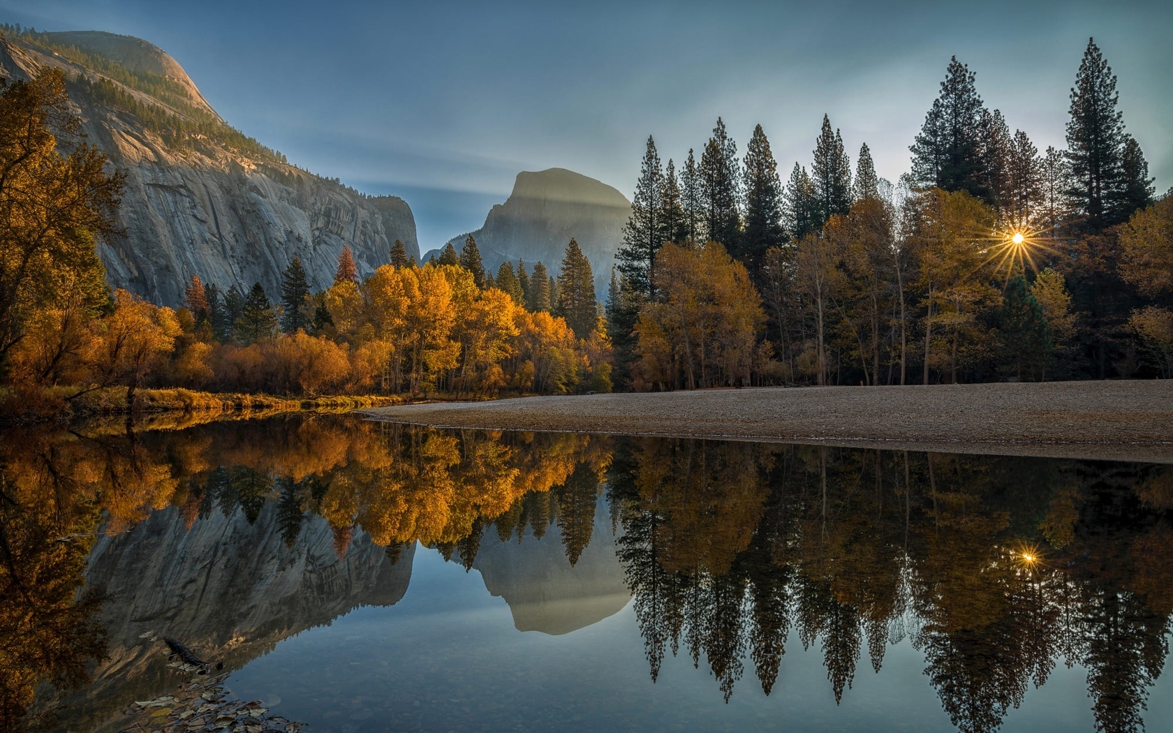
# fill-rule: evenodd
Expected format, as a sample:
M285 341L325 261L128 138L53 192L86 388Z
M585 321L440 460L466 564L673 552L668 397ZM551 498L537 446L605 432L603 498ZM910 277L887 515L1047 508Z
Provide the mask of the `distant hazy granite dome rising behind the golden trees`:
M517 174L506 203L493 206L484 225L472 233L493 272L507 259L524 259L527 269L541 262L554 276L567 244L576 239L590 260L595 291L602 300L630 216L631 202L616 189L571 170L550 168ZM452 239L457 252L467 236ZM439 250L434 253L440 256Z

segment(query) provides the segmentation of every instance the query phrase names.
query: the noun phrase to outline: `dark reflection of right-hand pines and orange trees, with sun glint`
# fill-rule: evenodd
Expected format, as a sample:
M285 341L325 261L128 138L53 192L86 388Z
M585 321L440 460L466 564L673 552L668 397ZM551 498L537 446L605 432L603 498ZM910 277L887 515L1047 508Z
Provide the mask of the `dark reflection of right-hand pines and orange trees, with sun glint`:
M683 646L726 700L746 657L768 694L793 630L838 701L865 647L879 672L907 637L962 731L996 729L1059 659L1087 667L1098 728L1144 725L1168 467L651 439L611 466L653 680Z

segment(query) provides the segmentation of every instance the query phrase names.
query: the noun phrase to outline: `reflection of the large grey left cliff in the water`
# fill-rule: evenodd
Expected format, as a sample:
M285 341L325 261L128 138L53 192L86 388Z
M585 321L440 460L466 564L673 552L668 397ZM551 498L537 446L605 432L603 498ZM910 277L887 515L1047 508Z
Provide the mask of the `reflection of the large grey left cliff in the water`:
M103 729L129 701L163 694L178 681L162 647L140 638L147 632L175 637L204 659L239 668L279 640L355 606L392 605L404 597L414 544L392 564L366 535L355 534L341 559L333 542L326 521L307 516L287 548L276 502L262 509L256 524L239 510L229 517L215 510L189 530L170 508L122 535L102 536L86 577L110 597L103 619L110 651L86 699L68 703L75 711L72 729Z

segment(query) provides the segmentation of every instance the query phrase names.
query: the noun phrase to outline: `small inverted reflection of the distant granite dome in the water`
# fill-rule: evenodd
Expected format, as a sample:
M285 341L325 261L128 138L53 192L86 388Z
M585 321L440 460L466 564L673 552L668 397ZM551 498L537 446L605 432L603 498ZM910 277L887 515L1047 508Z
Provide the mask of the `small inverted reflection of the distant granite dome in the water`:
M509 604L518 631L569 633L617 613L631 599L603 500L596 504L591 542L574 566L552 525L541 539L533 531L521 542L486 536L473 568L484 588Z

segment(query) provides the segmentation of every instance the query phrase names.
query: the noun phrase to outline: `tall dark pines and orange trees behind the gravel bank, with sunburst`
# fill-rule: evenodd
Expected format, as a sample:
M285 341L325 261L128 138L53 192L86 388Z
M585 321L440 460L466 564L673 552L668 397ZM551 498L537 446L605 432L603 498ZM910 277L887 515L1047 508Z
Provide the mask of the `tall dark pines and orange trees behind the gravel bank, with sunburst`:
M699 160L647 138L606 299L618 385L1173 376L1173 199L1154 199L1089 42L1066 150L1039 151L949 63L910 150L854 172L823 117L784 185L754 128Z

